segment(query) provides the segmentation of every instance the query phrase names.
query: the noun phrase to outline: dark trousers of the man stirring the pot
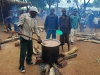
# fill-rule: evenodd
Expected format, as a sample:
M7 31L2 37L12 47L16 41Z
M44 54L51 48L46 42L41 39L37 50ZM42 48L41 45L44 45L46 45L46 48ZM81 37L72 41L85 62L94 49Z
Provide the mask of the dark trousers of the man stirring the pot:
M32 40L25 40L24 38L20 37L20 66L24 67L24 60L26 56L26 63L30 63L32 61ZM27 55L26 55L27 51Z

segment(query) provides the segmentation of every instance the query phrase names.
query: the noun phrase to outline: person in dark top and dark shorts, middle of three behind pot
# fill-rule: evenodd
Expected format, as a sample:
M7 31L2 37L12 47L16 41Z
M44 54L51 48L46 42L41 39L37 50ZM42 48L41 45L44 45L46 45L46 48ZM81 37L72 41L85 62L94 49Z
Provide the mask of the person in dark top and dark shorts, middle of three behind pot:
M71 30L70 17L66 15L66 9L62 9L62 16L59 18L59 27L63 34L60 36L61 46L67 43L68 51L70 50L69 34Z

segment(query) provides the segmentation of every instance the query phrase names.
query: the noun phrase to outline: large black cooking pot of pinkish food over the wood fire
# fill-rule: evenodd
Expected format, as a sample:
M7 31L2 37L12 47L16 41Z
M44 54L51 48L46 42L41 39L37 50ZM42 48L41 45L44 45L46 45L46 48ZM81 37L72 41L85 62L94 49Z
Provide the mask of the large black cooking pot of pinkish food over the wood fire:
M60 41L55 39L45 39L42 43L42 60L44 63L53 64L57 62L59 56Z

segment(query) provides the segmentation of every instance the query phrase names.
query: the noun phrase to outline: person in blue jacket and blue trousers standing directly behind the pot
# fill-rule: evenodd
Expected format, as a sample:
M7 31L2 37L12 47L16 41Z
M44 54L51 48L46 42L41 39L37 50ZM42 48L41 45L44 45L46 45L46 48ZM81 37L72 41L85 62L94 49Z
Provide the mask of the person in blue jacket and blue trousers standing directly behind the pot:
M54 9L50 9L50 14L46 17L45 20L45 31L47 33L46 39L50 39L52 35L52 39L56 39L56 29L58 29L58 16L54 14Z

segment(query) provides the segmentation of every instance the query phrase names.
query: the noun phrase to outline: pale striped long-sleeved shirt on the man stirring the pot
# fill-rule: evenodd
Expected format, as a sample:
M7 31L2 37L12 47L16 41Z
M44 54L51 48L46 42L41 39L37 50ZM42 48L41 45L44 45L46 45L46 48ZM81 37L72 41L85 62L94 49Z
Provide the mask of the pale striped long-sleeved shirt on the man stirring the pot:
M29 13L24 13L19 18L18 26L22 26L22 34L32 37L33 32L39 36L39 31L37 29L37 21L35 18L31 18ZM26 40L32 40L26 36L21 36Z

